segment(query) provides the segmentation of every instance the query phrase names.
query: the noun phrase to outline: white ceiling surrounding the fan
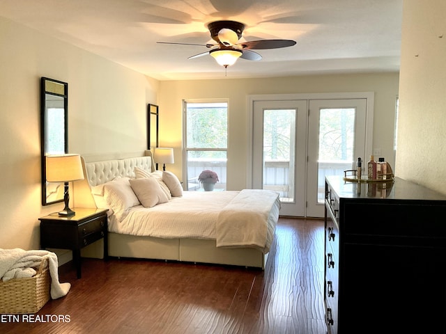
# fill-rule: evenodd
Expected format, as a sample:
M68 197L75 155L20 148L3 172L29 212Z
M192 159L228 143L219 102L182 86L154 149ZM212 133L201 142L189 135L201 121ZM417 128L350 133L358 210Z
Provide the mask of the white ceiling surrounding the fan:
M0 16L77 45L160 80L219 79L206 47L209 22L246 25L245 40L288 39L284 49L256 50L228 78L396 72L403 0L0 0Z

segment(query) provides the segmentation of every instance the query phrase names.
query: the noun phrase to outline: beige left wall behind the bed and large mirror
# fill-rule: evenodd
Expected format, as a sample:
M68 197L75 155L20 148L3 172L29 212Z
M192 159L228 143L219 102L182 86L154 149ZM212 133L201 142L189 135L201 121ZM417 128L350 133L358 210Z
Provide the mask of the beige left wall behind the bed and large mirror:
M68 82L69 150L144 150L158 81L0 17L0 248L38 248L40 77Z

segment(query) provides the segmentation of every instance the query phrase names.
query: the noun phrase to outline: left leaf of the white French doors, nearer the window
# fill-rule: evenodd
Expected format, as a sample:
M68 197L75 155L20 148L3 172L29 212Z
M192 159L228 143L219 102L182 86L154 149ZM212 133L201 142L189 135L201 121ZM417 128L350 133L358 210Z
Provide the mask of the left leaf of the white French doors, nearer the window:
M282 216L305 216L307 114L305 100L254 102L252 186L279 191Z

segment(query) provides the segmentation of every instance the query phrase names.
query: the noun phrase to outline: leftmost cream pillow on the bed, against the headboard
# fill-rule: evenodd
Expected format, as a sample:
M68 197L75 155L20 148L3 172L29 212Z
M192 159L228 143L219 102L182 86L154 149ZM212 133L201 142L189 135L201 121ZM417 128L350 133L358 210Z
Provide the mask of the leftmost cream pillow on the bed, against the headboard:
M139 200L130 186L128 177L119 177L104 184L104 198L112 207L116 218L122 221L131 207L139 205Z

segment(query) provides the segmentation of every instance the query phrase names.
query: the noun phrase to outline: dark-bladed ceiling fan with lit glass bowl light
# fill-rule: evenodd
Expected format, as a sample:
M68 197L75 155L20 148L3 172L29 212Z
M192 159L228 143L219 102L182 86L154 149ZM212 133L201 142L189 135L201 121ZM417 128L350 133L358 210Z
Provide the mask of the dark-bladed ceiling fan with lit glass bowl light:
M227 68L236 63L238 58L248 61L260 61L262 56L252 49L279 49L281 47L291 47L295 45L294 40L252 40L249 42L240 42L245 24L236 21L215 21L208 24L210 37L217 44L190 44L174 42L158 42L160 44L174 45L197 45L208 47L210 50L188 59L198 58L210 54L217 63Z

